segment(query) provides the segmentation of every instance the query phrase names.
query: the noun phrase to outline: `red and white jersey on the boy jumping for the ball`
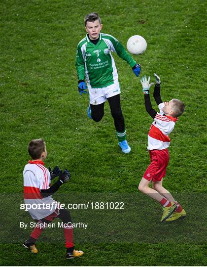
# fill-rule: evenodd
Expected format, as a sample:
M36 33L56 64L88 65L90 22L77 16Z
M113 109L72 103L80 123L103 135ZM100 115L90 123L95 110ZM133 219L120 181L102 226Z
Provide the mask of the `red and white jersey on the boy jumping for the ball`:
M173 131L175 122L178 119L164 115L162 110L164 106L164 102L159 104L158 108L160 113L157 112L154 122L150 127L148 133L148 150L162 150L170 146L171 139L168 135Z

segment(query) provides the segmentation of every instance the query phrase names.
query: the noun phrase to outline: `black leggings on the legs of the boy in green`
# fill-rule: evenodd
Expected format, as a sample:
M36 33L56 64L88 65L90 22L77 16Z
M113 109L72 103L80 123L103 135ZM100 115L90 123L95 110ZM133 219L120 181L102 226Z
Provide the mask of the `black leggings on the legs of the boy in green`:
M111 115L114 119L114 126L117 132L125 131L124 117L121 110L120 94L107 98ZM100 122L104 116L104 103L99 105L91 105L91 117L95 122Z

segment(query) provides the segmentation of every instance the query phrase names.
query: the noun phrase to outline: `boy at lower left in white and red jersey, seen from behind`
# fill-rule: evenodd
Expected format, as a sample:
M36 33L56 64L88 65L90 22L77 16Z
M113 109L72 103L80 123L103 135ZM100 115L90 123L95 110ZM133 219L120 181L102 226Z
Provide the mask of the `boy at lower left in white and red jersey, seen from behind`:
M23 172L24 201L25 204L28 204L27 207L31 207L30 209L28 208L28 211L37 223L29 239L23 243L23 246L30 249L32 253L37 253L36 240L45 230L48 223L51 223L55 218L59 218L66 225L64 226L66 259L82 256L82 251L74 249L73 229L69 211L60 209L58 202L52 198L52 194L69 180L70 174L68 170L62 172L56 166L51 171L44 167L43 160L47 156L47 150L43 139L32 140L28 145L28 152L32 160L26 164ZM59 179L51 186L51 179L55 177L59 177Z

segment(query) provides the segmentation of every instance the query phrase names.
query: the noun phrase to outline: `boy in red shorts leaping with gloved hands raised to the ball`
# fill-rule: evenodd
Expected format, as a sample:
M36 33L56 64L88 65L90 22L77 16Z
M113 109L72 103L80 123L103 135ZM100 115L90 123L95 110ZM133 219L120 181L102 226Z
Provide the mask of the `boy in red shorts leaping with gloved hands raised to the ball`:
M174 221L186 217L186 212L172 194L163 187L163 178L166 175L166 169L169 163L168 147L171 139L169 134L173 131L177 117L181 116L185 110L185 105L178 99L172 99L169 102L163 102L160 96L160 78L154 73L155 89L153 96L158 105L158 113L152 108L149 96L150 76L141 78L142 91L144 93L144 103L146 111L154 119L148 133L148 147L151 164L146 169L142 179L139 182L138 189L149 197L160 202L163 207L163 216L161 222ZM149 187L153 183L152 188Z

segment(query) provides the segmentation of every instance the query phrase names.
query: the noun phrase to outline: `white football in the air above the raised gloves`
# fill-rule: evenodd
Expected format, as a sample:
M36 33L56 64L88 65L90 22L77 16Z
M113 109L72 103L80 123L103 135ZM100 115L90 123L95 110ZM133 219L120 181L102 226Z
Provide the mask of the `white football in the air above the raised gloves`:
M146 47L146 40L140 35L133 35L127 41L127 50L133 55L141 55Z

